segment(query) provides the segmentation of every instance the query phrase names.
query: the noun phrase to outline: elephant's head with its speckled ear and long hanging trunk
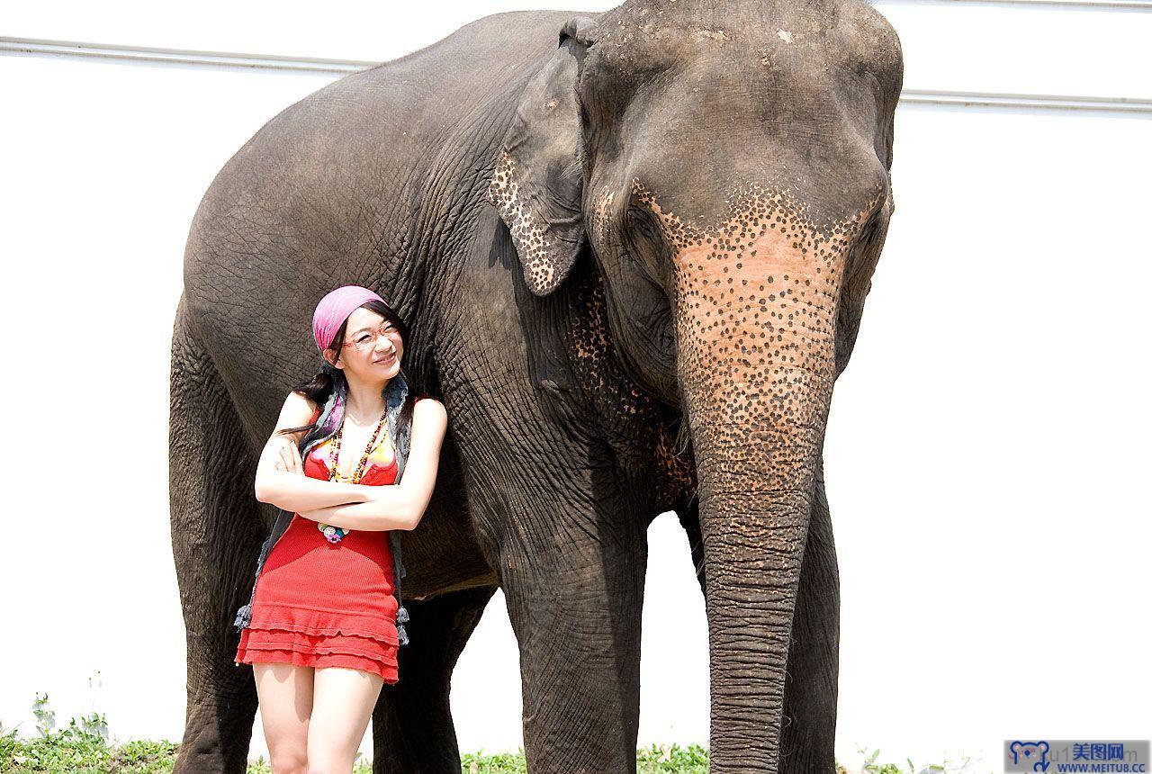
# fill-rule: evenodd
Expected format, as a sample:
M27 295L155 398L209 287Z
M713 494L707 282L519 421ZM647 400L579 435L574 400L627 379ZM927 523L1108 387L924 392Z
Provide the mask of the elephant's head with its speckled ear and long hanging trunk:
M488 200L533 294L591 252L629 374L687 419L713 771L763 762L833 382L893 213L900 44L855 0L626 2L559 32Z

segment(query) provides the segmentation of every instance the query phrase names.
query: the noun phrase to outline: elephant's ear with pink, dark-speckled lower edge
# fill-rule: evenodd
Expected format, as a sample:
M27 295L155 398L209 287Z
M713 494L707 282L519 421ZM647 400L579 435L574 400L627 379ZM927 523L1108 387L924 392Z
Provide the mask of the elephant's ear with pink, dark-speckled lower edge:
M594 41L586 16L560 30L556 51L524 89L505 135L487 200L508 226L524 281L537 296L555 290L571 271L584 235L584 168L578 58Z

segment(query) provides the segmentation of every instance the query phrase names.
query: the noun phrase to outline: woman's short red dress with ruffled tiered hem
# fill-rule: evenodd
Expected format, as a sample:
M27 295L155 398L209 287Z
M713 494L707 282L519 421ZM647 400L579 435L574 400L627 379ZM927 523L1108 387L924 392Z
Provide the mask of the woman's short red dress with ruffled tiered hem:
M304 475L329 480L331 450L328 439L309 451ZM359 483L385 486L395 480L395 453L381 438ZM388 532L353 530L328 542L316 525L293 515L268 552L236 661L350 667L396 683L400 637Z

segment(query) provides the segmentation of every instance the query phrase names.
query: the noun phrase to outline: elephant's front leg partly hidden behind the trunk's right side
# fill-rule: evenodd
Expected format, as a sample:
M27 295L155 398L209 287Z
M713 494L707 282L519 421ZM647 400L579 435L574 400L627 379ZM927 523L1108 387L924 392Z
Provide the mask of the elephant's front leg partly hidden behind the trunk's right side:
M823 461L816 471L816 496L791 632L785 673L780 772L832 774L835 771L840 577Z

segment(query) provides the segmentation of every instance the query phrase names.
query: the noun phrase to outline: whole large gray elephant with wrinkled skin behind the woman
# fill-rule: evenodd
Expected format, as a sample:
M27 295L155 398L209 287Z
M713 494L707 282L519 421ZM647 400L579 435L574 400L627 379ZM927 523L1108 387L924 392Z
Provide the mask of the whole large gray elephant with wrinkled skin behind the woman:
M675 510L712 771L832 772L825 422L893 212L901 82L856 0L627 2L483 18L263 127L196 214L173 337L177 771L243 771L256 460L319 363L313 304L356 282L409 321L406 373L449 416L403 536L411 645L376 771L460 771L449 677L499 586L530 771L634 772L645 531Z

